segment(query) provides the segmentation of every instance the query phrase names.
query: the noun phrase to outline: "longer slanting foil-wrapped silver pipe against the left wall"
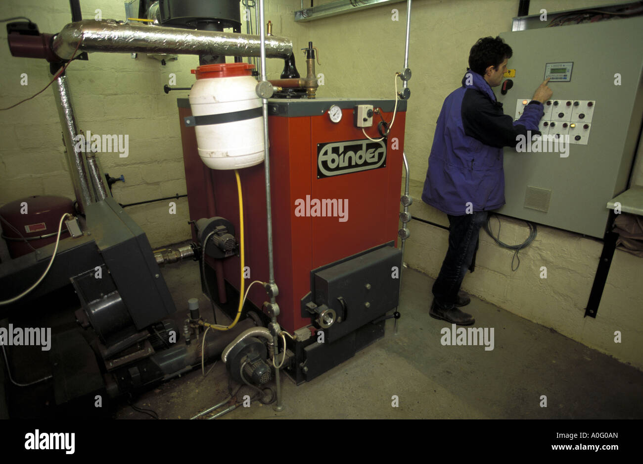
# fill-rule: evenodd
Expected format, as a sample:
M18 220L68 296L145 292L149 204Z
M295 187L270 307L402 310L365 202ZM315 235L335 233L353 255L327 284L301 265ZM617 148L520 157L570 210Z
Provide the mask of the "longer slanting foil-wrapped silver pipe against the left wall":
M85 156L82 151L75 149L77 145L75 138L80 132L78 131L74 109L71 105L67 76L65 74L60 76L53 82L51 88L53 88L53 95L56 98L60 125L62 125L62 138L65 142L69 175L71 176L71 183L78 202L78 210L85 212L85 206L93 203L94 199L87 176Z

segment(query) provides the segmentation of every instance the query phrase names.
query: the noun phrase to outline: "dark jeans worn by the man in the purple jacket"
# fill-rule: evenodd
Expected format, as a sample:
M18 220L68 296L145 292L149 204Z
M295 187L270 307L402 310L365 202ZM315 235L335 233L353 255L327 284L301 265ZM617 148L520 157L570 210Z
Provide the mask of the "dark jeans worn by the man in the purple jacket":
M449 249L442 262L440 274L433 284L435 302L446 309L453 308L462 279L478 250L480 228L487 221L488 211L476 211L449 218Z

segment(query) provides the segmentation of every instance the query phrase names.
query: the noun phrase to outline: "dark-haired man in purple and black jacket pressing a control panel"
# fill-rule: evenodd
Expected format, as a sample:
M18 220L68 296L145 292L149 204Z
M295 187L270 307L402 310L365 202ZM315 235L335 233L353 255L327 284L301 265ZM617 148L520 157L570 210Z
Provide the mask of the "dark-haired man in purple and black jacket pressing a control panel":
M527 131L538 133L543 104L552 96L547 79L519 120L505 115L491 88L502 82L511 55L511 47L500 37L476 42L462 87L444 100L433 136L422 200L447 214L449 248L433 284L429 315L452 324L475 322L458 309L471 302L460 285L489 210L505 204L502 147L515 147L516 137L527 137Z

